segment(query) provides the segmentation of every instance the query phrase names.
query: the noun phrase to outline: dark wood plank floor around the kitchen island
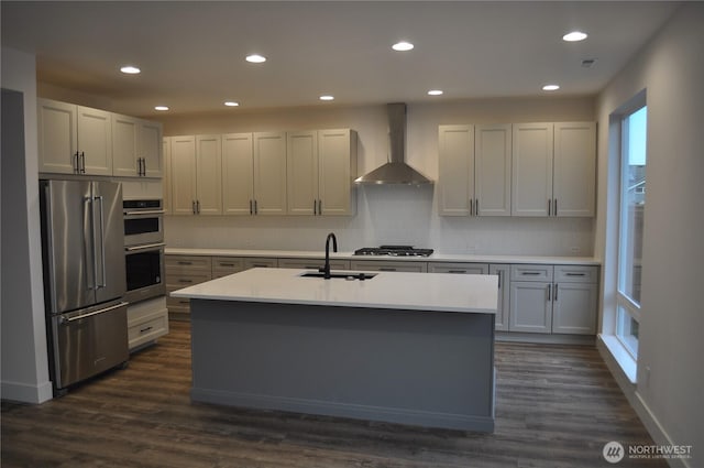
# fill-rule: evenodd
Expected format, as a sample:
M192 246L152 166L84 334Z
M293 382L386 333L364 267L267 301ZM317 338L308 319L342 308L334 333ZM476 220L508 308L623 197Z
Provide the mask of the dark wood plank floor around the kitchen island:
M475 434L190 403L187 323L66 396L2 403L10 467L606 467L652 444L593 347L497 344L496 431ZM221 359L228 359L222 356Z

